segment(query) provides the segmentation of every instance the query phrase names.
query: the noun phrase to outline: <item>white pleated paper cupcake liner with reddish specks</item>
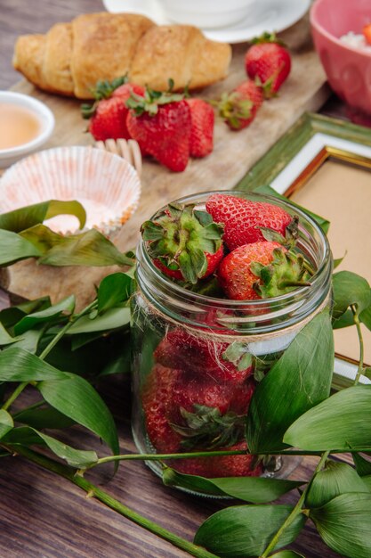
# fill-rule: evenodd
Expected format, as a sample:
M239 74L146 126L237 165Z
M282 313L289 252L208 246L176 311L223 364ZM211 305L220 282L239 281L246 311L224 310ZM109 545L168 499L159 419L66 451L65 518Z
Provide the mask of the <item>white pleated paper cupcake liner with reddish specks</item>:
M86 229L110 234L138 207L141 181L126 160L93 147L57 147L30 155L0 179L0 212L39 201L77 200L86 211ZM45 225L61 234L76 233L77 217L60 215Z

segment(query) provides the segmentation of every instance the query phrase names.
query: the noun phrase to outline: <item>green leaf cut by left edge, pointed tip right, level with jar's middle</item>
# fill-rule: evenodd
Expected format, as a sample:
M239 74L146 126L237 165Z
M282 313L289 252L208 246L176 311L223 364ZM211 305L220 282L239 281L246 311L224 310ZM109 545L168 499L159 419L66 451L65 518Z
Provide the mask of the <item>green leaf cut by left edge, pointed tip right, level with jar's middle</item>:
M66 377L66 373L24 349L10 347L0 351L0 382L39 382Z

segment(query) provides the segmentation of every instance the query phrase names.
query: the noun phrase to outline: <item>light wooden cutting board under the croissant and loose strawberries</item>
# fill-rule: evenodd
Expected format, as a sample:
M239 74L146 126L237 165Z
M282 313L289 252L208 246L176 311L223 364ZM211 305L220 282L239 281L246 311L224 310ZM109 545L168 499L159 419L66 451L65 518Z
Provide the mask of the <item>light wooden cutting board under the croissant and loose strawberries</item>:
M263 103L257 118L245 130L232 132L217 120L214 152L205 159L190 160L182 173L173 173L155 161L146 160L139 209L113 238L120 250L135 246L141 223L168 201L191 193L232 189L302 112L317 111L326 101L329 90L319 57L313 50L308 17L287 29L281 37L293 54L293 68L279 96ZM246 44L233 46L229 77L207 87L199 96L217 99L246 79L246 48ZM93 143L91 136L85 133L86 123L81 119L80 103L76 100L45 94L26 81L14 86L13 90L35 96L54 113L56 127L45 147ZM37 266L33 259L28 259L9 268L3 285L28 299L48 294L56 301L74 293L80 308L93 299L94 285L116 269Z

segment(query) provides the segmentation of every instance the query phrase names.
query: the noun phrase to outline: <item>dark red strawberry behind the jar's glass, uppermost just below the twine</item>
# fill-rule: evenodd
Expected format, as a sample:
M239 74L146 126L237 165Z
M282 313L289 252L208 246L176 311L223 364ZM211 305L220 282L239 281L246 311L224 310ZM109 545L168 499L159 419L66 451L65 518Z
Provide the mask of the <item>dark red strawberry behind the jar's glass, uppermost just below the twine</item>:
M253 367L228 360L228 348L228 343L209 341L177 328L158 344L154 357L164 366L182 368L198 378L240 384L253 373Z

